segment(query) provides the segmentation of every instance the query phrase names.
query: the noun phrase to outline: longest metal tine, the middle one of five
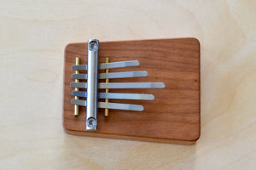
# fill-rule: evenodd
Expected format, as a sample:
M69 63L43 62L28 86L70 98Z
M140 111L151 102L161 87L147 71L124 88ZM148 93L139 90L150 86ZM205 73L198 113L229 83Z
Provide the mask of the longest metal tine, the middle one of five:
M71 82L71 88L87 88L86 82ZM165 88L163 82L101 82L98 88Z

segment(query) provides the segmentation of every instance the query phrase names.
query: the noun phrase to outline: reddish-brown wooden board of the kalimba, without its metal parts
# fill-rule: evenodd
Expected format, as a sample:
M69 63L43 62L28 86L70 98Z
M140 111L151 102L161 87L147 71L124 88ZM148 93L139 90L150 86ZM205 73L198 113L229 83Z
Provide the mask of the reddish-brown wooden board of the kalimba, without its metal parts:
M148 77L110 79L110 82L164 82L166 88L110 89L109 92L112 93L154 94L155 99L109 99L109 102L114 103L143 105L144 111L109 110L109 116L105 117L104 109L98 109L96 132L85 131L85 107L79 106L79 116L73 115L74 105L71 100L74 97L71 93L74 88L70 88L70 82L74 82L74 71L71 66L75 65L75 58L78 56L80 64L86 65L86 42L70 43L65 48L63 127L66 133L172 144L194 144L199 139L201 88L200 43L197 39L100 42L99 63L105 63L106 57L110 58L110 62L140 62L139 66L110 69L110 72L148 71Z

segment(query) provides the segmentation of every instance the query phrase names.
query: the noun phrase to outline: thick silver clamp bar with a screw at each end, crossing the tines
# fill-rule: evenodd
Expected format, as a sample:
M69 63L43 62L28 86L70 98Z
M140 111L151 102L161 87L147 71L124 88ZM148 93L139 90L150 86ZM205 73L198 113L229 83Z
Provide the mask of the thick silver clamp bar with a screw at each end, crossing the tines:
M96 130L97 125L98 48L98 40L88 41L86 130L91 131Z

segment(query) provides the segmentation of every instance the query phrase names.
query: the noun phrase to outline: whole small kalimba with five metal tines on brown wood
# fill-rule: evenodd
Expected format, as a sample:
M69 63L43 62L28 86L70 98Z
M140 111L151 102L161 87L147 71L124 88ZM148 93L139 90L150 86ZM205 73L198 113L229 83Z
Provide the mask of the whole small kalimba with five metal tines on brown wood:
M200 136L195 38L70 43L63 127L69 134L194 144Z

